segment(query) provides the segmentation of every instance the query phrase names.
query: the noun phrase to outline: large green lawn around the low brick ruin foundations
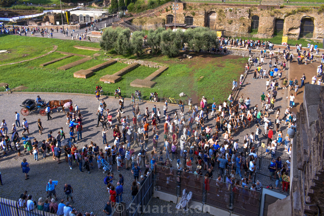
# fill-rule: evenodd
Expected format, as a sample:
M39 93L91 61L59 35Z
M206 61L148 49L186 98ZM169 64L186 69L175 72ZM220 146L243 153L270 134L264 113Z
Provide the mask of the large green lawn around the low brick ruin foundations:
M16 41L16 42L14 42ZM131 87L130 83L135 79L144 79L149 74L156 71L156 68L140 66L131 72L122 76L121 81L115 84L104 84L99 81L99 78L106 74L114 74L127 64L115 63L99 70L87 79L75 78L73 73L93 67L104 61L104 58L112 56L113 58L131 58L136 59L134 55L117 55L109 52L104 56L104 51L88 51L73 48L74 45L83 45L90 47L98 47L97 43L80 42L72 40L59 40L48 38L31 38L23 36L5 35L0 36L0 42L4 49L12 50L6 55L1 63L15 62L21 59L21 53L26 52L26 44L28 49L33 49L34 53L29 53L29 59L44 53L44 49L51 50L53 45L58 46L58 51L78 53L92 56L94 53L101 54L85 63L76 65L66 71L58 70L57 68L67 63L77 61L83 57L72 56L61 61L49 64L45 67L40 67L41 63L63 57L63 54L53 52L49 55L35 59L32 61L5 65L0 67L0 82L9 83L10 87L25 85L27 87L38 88L64 88L64 89L85 89L93 90L95 86L103 86L104 91L114 92L115 89L121 87L122 92L128 95L134 93L135 90L141 90L142 95L148 97L150 92L157 92L159 97L173 97L179 99L179 94L184 92L188 97L193 99L193 102L198 98L205 96L210 99L214 98L215 102L220 102L228 97L231 90L232 81L238 79L243 73L244 63L246 58L237 56L218 56L218 55L203 55L199 56L192 53L193 59L183 59L180 61L180 54L175 58L168 58L163 55L155 56L153 54L145 54L141 56L141 60L153 61L168 65L169 69L158 76L154 81L157 84L152 88L135 88ZM27 43L28 42L28 43ZM33 46L37 44L37 46ZM12 55L10 55L12 54ZM0 54L0 57L2 54ZM94 57L94 56L92 56ZM1 58L2 59L2 58ZM187 98L185 98L187 99Z

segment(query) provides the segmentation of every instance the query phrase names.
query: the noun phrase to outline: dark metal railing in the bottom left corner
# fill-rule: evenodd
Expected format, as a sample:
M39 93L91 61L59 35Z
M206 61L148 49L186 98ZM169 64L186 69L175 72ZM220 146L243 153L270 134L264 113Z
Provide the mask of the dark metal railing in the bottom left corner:
M26 209L20 208L18 201L14 199L0 198L0 215L1 216L44 216L48 212L44 210L38 210L37 205L34 210L28 211Z

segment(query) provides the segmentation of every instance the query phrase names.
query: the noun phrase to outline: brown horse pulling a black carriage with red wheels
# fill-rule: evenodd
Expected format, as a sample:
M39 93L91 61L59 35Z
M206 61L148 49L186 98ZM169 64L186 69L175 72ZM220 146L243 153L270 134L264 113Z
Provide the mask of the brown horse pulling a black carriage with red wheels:
M26 99L24 102L21 103L20 107L23 107L20 112L23 116L28 116L29 115L29 112L35 110L35 111L38 111L39 108L41 108L40 110L40 114L41 116L45 116L46 115L46 111L45 111L45 107L47 105L50 106L50 109L56 109L58 107L61 107L63 112L65 113L64 111L64 104L65 103L68 103L70 102L69 104L72 104L72 100L71 99L68 99L68 100L52 100L52 101L49 101L48 103L46 103L45 101L43 101L44 104L41 105L41 104L37 104L35 102L35 100L33 99ZM58 110L57 110L58 111ZM58 111L60 112L60 111Z

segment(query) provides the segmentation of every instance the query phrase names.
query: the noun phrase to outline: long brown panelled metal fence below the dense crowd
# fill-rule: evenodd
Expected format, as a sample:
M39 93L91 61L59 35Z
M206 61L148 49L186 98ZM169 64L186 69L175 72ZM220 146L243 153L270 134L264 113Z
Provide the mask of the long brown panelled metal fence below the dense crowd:
M175 196L181 196L182 190L186 189L187 192L192 192L192 200L203 204L233 210L238 215L259 214L261 192L249 188L234 188L232 184L226 183L225 179L219 182L216 179L205 179L201 175L156 165L155 189Z

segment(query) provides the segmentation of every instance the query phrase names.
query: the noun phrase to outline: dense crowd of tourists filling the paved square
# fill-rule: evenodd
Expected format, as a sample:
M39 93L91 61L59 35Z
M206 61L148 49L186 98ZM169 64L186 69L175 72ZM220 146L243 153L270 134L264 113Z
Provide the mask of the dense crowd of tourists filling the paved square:
M193 173L196 180L202 176L206 179L218 179L216 187L226 183L235 188L238 194L246 193L246 189L260 191L261 180L256 181L253 178L257 169L257 159L261 156L257 154L257 149L260 146L266 149L264 156L269 155L271 157L268 175L270 180L275 182L274 187L272 185L268 187L270 189L282 188L282 190L287 191L290 182L290 156L293 141L281 127L289 128L291 125L296 125L296 119L290 111L295 106L295 97L293 94L288 97L290 103L284 114L281 113L280 108L276 108L275 103L278 91L287 91L287 87L289 87L289 91L295 90L296 95L298 88L303 87L306 76L304 74L301 77L300 86L297 77L288 81L287 77L283 76L287 61L291 61L290 56L292 56L292 53L289 52L289 45L282 53L280 51L273 53L271 42L221 39L221 44L226 45L228 43L247 46L248 49L249 47L261 49L260 55L250 55L246 65L248 69L254 66L253 79L262 79L265 84L265 90L260 95L260 102L240 96L236 103L234 94L231 93L220 104L214 102L210 105L207 98L202 97L197 106L190 104L188 111L185 111L182 101L179 103L179 110L172 112L169 111L168 101L163 104L163 112L156 108L156 105L141 110L139 106L142 97L140 91L132 94L130 104L125 104L127 100L122 97L121 88L118 88L115 92L115 98L118 100L119 108L112 112L113 108L110 107L110 104L99 99L102 96L102 87L97 86L96 99L99 101L99 105L96 112L98 120L96 127L102 127L100 133L103 140L102 144L89 142L83 143L83 147L80 147L82 145L79 141L82 142L84 122L82 120L82 107L79 108L75 104L74 108L70 106L69 112L64 116L66 118L66 122L65 120L64 122L67 125L64 125L65 129L61 127L58 131L50 131L47 138L42 141L29 139L29 123L24 118L21 126L19 113L12 114L10 123L11 121L15 121L15 123L10 127L11 131L4 119L0 128L0 146L3 155L6 156L8 152L15 152L18 157L24 156L21 168L26 180L29 179L28 173L32 169L28 163L28 160L32 160L32 158L29 158L28 155L33 156L34 160L38 161L38 155L41 154L43 159L54 160L60 164L61 155L64 154L62 158L65 159L67 169L76 168L80 172L86 170L88 174L91 173L90 170L97 169L97 167L95 168L96 165L98 170L108 169L109 172L104 178L104 183L109 200L103 209L103 212L107 215L110 215L117 202L122 201L124 187L123 176L119 173L116 177L117 182L114 181L113 170L120 172L126 169L129 175L133 176L134 180L128 182L131 184L131 195L133 197L149 174L156 169L156 165L168 168L167 171L161 171L162 168L159 168L159 172L171 172L172 169L170 168L174 166L176 167L175 170L182 173ZM269 56L263 49L271 51ZM307 54L307 57L312 55L308 56ZM322 55L322 63L323 58L324 55ZM263 68L266 65L265 59L269 61L268 70ZM309 60L312 61L312 59ZM323 76L322 63L314 76L315 81L316 77ZM312 79L312 84L315 84L315 81L313 81ZM5 88L8 92L9 87L6 86ZM234 80L233 90L236 88L237 83ZM157 94L152 92L150 101L156 102L157 98ZM124 114L125 110L132 115ZM274 118L270 118L270 116L274 116ZM213 125L210 124L211 122ZM37 126L42 135L41 119L38 120ZM21 134L18 133L19 127L22 127ZM245 133L245 129L251 128L253 132ZM66 129L69 131L68 134L64 132ZM239 134L239 137L234 137L236 134ZM64 142L66 139L68 141ZM79 143L78 146L77 143ZM288 155L288 160L284 162L281 160L281 156L277 154L277 148L282 145L284 145L284 153ZM213 172L217 174L214 175ZM181 175L179 177L184 177L184 174ZM172 176L175 176L175 173L168 174L166 177L166 186ZM0 182L2 185L1 173ZM52 182L54 182L53 186ZM55 191L54 193L50 192L52 191L51 187L55 189L55 183L57 184L51 179L47 183L50 199L45 199L43 202L40 198L39 202L36 203L36 201L32 201L31 195L26 196L26 192L24 196L19 198L19 206L26 207L27 210L43 208L46 211L51 211L51 209L54 209L55 213L64 214L64 216L80 215L80 212L77 213L70 206L68 199L71 198L71 202L73 202L73 199L69 195L70 193L66 194L66 188L73 192L70 185L64 186L68 202L64 203L64 200L61 200L59 204L55 202L57 201L56 193ZM217 190L216 195L219 196L219 193L223 193L222 190ZM52 199L51 195L54 195L56 200ZM242 206L242 208L245 209L246 206ZM86 213L85 215L90 214Z

